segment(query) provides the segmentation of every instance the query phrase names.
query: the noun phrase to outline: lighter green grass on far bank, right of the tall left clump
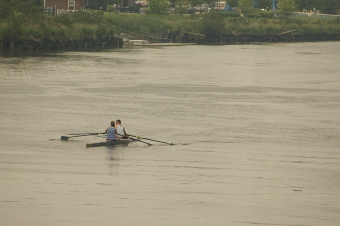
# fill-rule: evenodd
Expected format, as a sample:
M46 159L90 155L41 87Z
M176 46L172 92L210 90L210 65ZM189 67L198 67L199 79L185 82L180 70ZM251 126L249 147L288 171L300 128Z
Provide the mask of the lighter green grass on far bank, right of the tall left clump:
M164 35L167 32L204 34L204 15L145 15L145 14L105 14L109 23L125 30L144 35ZM209 21L206 26L216 26ZM210 23L209 23L210 22ZM315 17L244 18L223 17L223 23L216 30L224 35L278 35L297 29L299 35L338 34L340 35L340 18L320 19ZM215 34L208 34L215 35Z

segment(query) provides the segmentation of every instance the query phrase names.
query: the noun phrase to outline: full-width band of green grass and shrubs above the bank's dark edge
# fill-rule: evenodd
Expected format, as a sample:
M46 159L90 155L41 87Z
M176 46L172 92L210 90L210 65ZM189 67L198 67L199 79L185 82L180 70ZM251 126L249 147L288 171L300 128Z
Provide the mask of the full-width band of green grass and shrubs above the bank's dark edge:
M120 29L121 28L121 29ZM122 30L123 29L123 30ZM170 37L179 33L195 33L207 37L221 35L272 36L287 31L296 35L340 36L340 18L292 17L282 19L246 18L234 14L211 12L205 15L146 15L134 13L103 14L101 12L75 12L45 17L13 14L0 19L1 48L16 40L18 45L30 43L65 43L69 40L97 41L136 34ZM131 32L131 33L130 33ZM135 35L138 37L138 35ZM140 36L139 36L140 37ZM144 38L148 39L148 38ZM174 40L173 40L174 41Z

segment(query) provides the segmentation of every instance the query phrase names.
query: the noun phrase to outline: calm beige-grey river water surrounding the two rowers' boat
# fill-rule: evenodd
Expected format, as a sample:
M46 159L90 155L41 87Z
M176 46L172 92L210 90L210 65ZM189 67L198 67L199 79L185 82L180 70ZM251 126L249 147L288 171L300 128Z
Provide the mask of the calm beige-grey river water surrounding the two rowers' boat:
M339 226L340 42L0 55L0 225ZM158 141L86 148L120 119Z

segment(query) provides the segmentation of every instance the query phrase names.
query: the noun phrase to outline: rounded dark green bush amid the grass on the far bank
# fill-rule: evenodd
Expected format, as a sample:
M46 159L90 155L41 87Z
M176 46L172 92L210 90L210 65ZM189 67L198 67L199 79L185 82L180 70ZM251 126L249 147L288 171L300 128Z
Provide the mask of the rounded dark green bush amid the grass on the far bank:
M204 14L201 22L202 33L205 35L221 35L225 28L224 18L216 11Z

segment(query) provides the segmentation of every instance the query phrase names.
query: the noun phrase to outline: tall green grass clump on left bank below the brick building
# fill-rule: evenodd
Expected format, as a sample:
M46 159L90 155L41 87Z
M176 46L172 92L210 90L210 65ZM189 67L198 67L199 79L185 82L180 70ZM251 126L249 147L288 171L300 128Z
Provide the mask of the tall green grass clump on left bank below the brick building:
M25 20L20 15L0 20L0 39L32 40L36 42L97 40L111 38L116 29L107 26L96 13L76 12L53 17Z

